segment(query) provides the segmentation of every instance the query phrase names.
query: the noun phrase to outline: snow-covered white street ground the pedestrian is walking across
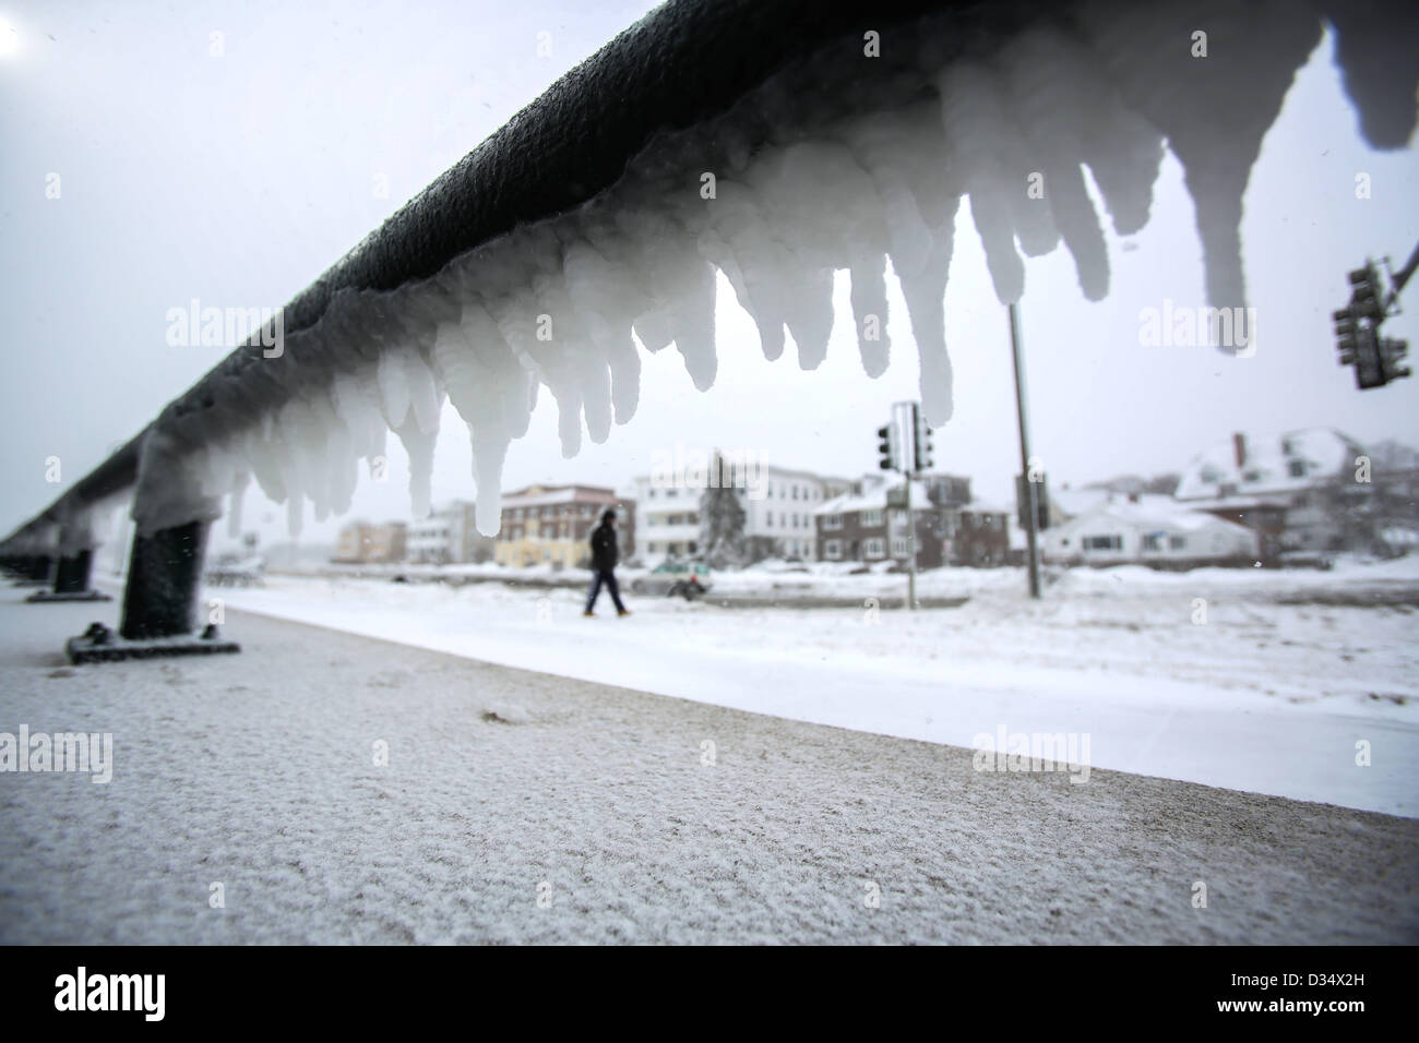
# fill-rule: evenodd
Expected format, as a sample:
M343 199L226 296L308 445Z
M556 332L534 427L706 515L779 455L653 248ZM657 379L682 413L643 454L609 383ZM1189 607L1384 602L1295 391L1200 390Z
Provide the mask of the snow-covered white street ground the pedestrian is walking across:
M268 578L234 609L722 707L959 746L1077 735L1095 768L1419 816L1419 559L1334 572L1019 570L902 576L768 568L719 589L861 596L861 609L721 609L570 589ZM624 586L624 583L623 583ZM1382 605L1369 605L1375 596ZM1205 602L1205 603L1203 603ZM1354 603L1347 603L1354 602ZM1409 602L1409 603L1405 603ZM231 636L240 639L240 629ZM1357 744L1368 744L1368 765Z

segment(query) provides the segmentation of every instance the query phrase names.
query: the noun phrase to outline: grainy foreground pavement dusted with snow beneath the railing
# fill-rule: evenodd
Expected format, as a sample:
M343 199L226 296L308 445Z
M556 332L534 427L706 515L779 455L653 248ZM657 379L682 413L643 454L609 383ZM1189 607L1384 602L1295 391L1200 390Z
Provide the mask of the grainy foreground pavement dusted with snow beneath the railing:
M0 942L1419 941L1415 820L234 612L241 656L71 668L102 612L17 600L0 731L111 731L115 768L0 775Z

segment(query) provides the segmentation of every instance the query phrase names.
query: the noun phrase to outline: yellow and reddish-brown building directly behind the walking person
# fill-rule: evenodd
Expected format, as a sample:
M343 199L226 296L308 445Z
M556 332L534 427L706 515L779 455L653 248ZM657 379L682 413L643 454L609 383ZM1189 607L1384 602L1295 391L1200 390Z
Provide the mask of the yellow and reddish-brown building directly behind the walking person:
M636 552L636 501L600 485L528 485L502 497L502 525L494 541L499 565L586 568L592 529L616 509L622 558Z

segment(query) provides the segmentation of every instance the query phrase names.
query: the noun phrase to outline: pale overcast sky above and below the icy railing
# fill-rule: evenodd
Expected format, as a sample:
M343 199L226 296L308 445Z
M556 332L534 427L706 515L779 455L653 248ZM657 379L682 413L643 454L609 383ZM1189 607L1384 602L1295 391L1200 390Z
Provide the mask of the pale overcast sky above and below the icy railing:
M287 302L653 6L0 0L0 305L10 331L0 531L57 495L47 457L60 458L67 487L226 353L169 346L169 308ZM538 55L541 33L551 57ZM1032 437L1051 481L1178 470L1233 430L1320 424L1361 441L1419 443L1419 382L1359 393L1335 363L1330 314L1348 298L1345 272L1366 255L1398 267L1419 237L1419 162L1364 145L1331 47L1327 35L1300 72L1252 172L1243 251L1253 358L1139 345L1142 308L1205 304L1192 202L1171 156L1148 227L1108 240L1108 299L1083 299L1063 250L1027 263ZM1368 200L1355 197L1361 172ZM47 197L53 175L57 199ZM677 441L844 477L874 470L874 429L890 403L917 397L915 348L893 292L893 365L868 380L843 274L837 291L827 362L805 373L792 346L762 359L721 281L710 392L694 390L674 349L646 356L634 420L603 446L583 438L573 460L561 456L543 393L508 454L504 488L552 480L626 490L653 451ZM1419 333L1416 294L1388 335ZM978 495L1005 504L1019 470L1007 328L965 206L946 342L956 409L935 436L938 467L972 475ZM365 482L352 517L407 517L402 448L393 437L389 446L390 482ZM470 468L450 410L436 504L471 497ZM247 528L284 538L284 511L254 500ZM332 541L339 524L308 521L302 542Z

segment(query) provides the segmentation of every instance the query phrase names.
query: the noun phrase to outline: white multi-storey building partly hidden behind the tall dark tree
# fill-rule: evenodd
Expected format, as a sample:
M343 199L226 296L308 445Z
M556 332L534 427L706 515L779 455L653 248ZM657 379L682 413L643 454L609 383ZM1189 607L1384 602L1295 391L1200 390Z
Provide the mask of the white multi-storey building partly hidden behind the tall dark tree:
M849 492L853 482L812 471L761 464L732 477L744 508L745 558L816 561L815 511L829 498ZM700 505L705 490L656 480L636 480L640 504L643 561L656 566L670 558L701 552Z

